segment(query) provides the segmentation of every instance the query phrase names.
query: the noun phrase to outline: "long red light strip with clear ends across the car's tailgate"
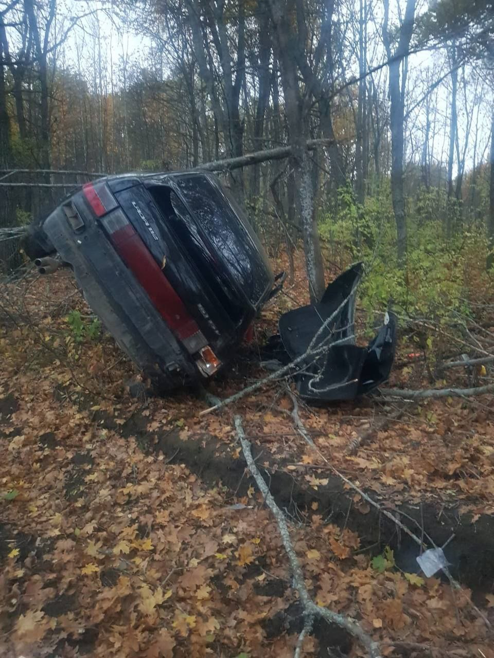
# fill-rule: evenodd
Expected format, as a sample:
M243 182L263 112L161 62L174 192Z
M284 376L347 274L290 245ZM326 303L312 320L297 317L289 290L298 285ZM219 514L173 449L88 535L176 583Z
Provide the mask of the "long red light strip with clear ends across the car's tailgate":
M115 251L132 271L153 305L190 354L206 347L207 340L150 251L121 209L100 218Z

